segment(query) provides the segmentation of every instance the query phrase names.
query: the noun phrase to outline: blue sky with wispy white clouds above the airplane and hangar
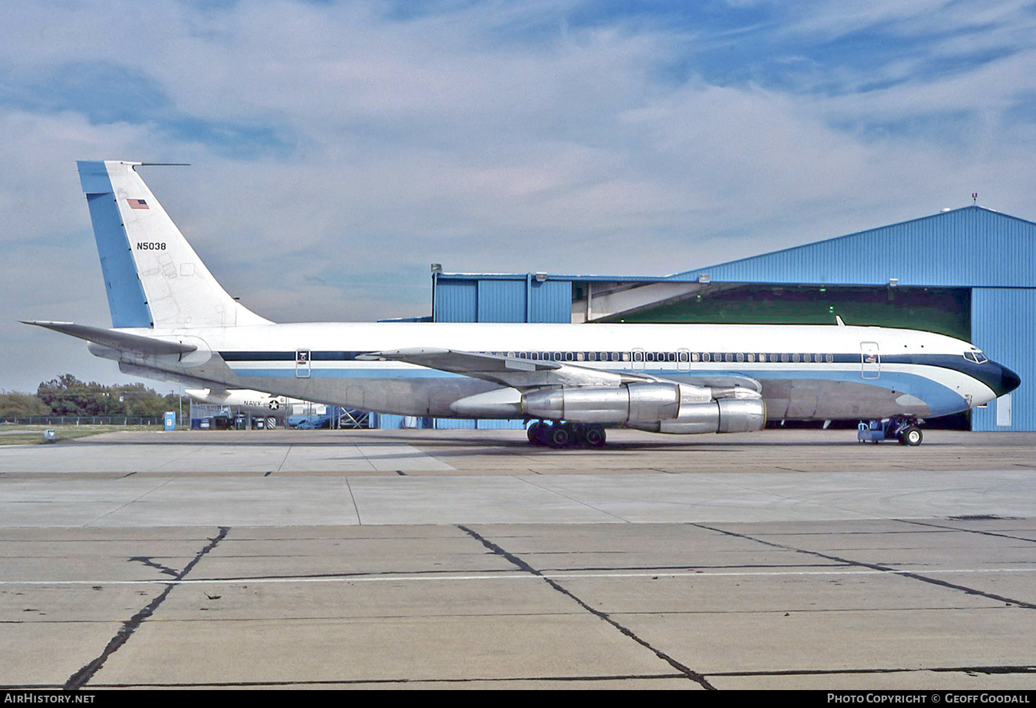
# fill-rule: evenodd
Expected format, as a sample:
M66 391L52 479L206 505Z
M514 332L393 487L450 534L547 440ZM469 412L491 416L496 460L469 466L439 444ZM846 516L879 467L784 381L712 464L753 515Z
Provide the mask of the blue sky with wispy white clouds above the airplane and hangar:
M37 0L0 24L0 389L136 381L77 159L278 322L450 272L664 275L979 204L1036 220L1036 3ZM172 384L148 382L160 391Z

